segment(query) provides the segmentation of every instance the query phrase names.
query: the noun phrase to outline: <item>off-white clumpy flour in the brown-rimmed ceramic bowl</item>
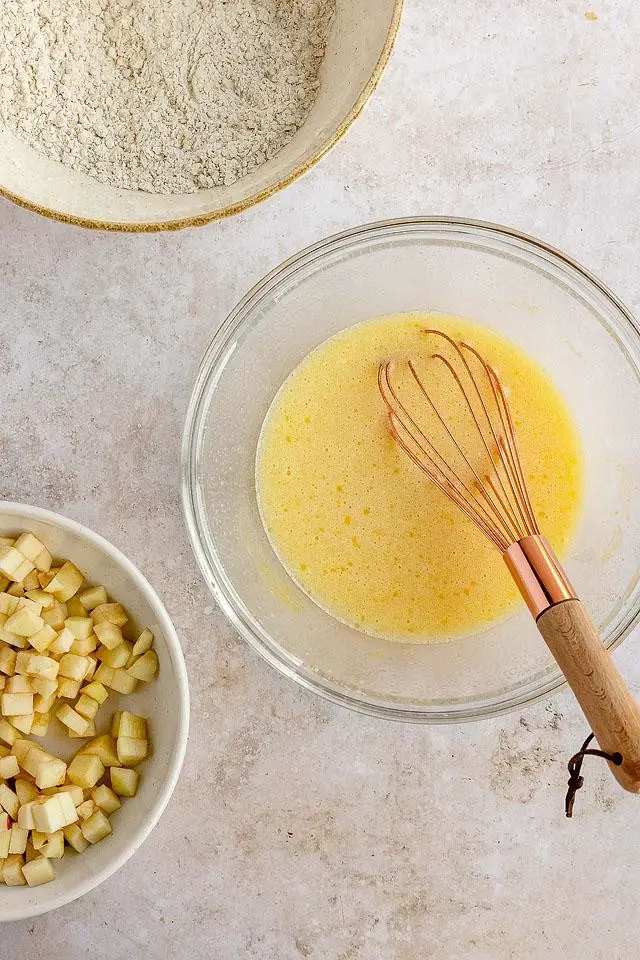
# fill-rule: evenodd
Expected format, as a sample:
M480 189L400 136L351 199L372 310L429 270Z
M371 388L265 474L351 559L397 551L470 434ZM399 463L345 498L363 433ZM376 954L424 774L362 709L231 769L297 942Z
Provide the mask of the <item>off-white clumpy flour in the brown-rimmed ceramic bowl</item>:
M0 0L0 121L118 187L231 184L318 89L335 0Z

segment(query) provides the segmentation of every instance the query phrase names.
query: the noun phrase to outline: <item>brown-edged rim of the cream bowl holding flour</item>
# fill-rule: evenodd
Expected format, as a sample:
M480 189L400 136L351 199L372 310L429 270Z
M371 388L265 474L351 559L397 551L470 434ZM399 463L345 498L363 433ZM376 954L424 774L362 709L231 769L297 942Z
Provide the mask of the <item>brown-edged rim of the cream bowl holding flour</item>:
M203 227L207 223L213 223L216 220L223 220L226 217L232 217L236 213L242 213L244 210L248 210L250 207L253 207L258 203L262 203L263 200L267 200L269 197L273 196L273 194L278 193L280 190L288 187L295 180L298 180L300 177L304 176L305 173L307 173L312 167L319 163L320 160L322 160L325 154L335 147L335 145L347 133L349 128L355 123L364 110L367 101L370 99L371 95L380 83L382 75L387 67L387 64L389 63L389 59L393 52L393 47L398 36L398 31L400 29L403 6L404 0L395 0L393 15L391 17L391 23L389 24L389 30L387 32L387 38L385 40L384 47L382 48L382 52L378 57L378 61L371 76L360 91L349 113L340 123L337 130L331 135L331 137L329 137L328 140L325 140L325 142L321 144L321 146L309 160L305 160L304 163L299 164L286 177L276 181L276 183L271 184L271 186L266 187L264 190L253 194L251 197L247 197L246 200L243 200L240 203L231 204L229 207L224 207L222 210L215 210L211 213L203 213L197 217L180 217L177 220L161 220L158 223L118 223L116 221L94 220L91 217L77 217L72 214L63 213L60 210L51 210L48 207L43 207L38 203L27 200L25 197L21 197L12 190L7 190L1 184L0 197L4 197L6 200L11 200L12 203L15 203L19 207L24 207L26 210L39 213L43 217L49 217L51 220L58 220L60 223L69 223L76 227L86 227L89 230L107 230L112 233L161 233L168 230L184 230L186 227Z

